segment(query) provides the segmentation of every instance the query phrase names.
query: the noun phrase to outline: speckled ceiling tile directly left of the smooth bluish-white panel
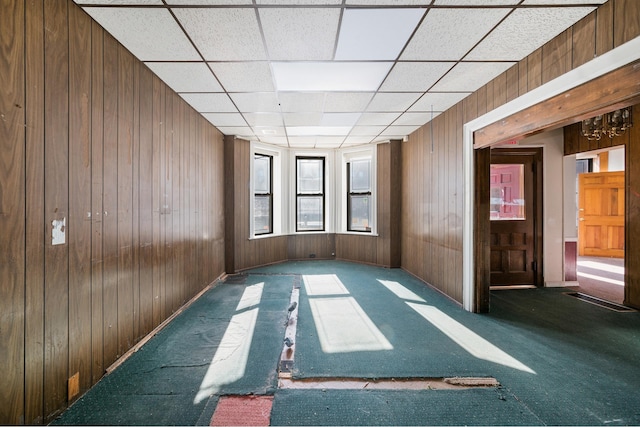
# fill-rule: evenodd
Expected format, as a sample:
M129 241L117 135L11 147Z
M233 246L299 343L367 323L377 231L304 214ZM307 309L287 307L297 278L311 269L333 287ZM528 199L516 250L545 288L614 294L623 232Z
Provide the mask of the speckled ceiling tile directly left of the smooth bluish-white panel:
M340 9L274 8L259 13L272 61L332 59Z

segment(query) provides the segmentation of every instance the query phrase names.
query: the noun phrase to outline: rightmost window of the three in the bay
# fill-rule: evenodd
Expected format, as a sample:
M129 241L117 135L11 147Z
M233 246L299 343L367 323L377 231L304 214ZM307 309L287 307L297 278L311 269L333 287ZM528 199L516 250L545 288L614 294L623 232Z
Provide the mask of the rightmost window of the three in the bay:
M371 232L371 159L347 163L347 231Z

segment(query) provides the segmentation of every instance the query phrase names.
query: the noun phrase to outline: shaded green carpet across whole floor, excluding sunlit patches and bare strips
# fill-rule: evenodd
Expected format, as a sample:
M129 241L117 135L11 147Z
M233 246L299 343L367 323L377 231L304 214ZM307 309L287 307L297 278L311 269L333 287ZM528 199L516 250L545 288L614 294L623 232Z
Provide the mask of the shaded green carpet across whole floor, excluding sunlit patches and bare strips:
M391 350L324 353L301 276L336 274ZM380 280L402 284L447 319L534 372L474 356ZM244 375L194 396L248 286L264 283ZM490 389L282 390L277 366L291 289L299 286L296 377L490 376ZM329 297L330 298L330 297ZM462 326L463 325L463 326ZM488 359L488 360L485 360ZM274 394L273 425L640 425L640 313L561 289L492 292L491 313L459 305L399 269L291 262L230 277L206 292L54 424L207 425L218 397Z

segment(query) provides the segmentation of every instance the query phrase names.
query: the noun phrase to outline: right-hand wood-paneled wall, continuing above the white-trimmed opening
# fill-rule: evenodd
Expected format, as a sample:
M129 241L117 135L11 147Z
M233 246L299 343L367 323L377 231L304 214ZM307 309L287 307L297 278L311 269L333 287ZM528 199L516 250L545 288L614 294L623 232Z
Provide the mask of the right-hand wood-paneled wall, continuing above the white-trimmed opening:
M640 2L610 0L409 137L402 152L403 268L462 302L464 123L637 37L638 16Z

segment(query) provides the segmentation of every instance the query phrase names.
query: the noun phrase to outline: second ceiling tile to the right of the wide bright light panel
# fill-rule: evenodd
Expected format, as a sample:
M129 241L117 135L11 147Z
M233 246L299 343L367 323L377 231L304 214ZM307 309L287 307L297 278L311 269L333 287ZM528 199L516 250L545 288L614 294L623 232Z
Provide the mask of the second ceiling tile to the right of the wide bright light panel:
M433 91L474 92L513 66L513 62L461 62L433 87Z

